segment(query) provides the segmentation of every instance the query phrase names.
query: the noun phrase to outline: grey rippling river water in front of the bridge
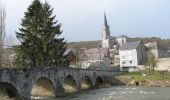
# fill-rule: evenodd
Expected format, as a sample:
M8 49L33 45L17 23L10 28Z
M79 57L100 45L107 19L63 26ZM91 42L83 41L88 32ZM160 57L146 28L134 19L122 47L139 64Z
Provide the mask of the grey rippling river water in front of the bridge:
M45 100L170 100L170 88L115 86Z

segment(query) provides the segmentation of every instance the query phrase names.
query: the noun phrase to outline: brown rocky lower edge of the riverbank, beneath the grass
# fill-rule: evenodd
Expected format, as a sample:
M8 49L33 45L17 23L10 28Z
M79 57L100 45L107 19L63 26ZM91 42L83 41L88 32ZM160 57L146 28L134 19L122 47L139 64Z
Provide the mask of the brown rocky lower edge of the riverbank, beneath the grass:
M133 77L120 76L112 80L112 85L170 87L170 80L136 80Z

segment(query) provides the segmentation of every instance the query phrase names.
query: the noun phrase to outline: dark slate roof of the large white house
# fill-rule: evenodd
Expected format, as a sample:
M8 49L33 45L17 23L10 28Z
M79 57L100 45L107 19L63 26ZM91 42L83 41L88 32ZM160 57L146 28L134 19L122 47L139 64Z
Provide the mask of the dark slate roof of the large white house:
M120 47L120 50L136 49L140 43L141 43L141 41L128 42L128 43L126 43L126 44L123 44L123 45Z

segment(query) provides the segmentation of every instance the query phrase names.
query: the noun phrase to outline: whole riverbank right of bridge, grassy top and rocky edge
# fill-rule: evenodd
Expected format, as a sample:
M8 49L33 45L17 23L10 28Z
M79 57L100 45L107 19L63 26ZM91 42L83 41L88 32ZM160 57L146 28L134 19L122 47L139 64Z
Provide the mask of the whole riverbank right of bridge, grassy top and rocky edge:
M112 85L170 87L170 74L155 73L143 76L141 73L128 73L112 79Z

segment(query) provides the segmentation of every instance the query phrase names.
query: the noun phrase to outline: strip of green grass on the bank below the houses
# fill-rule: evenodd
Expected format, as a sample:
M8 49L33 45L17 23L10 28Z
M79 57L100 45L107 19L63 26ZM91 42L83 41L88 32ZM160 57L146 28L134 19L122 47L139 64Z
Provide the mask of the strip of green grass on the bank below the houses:
M169 72L165 72L165 73L155 72L152 75L146 75L146 76L143 76L141 72L129 72L122 76L128 76L135 80L170 80Z

